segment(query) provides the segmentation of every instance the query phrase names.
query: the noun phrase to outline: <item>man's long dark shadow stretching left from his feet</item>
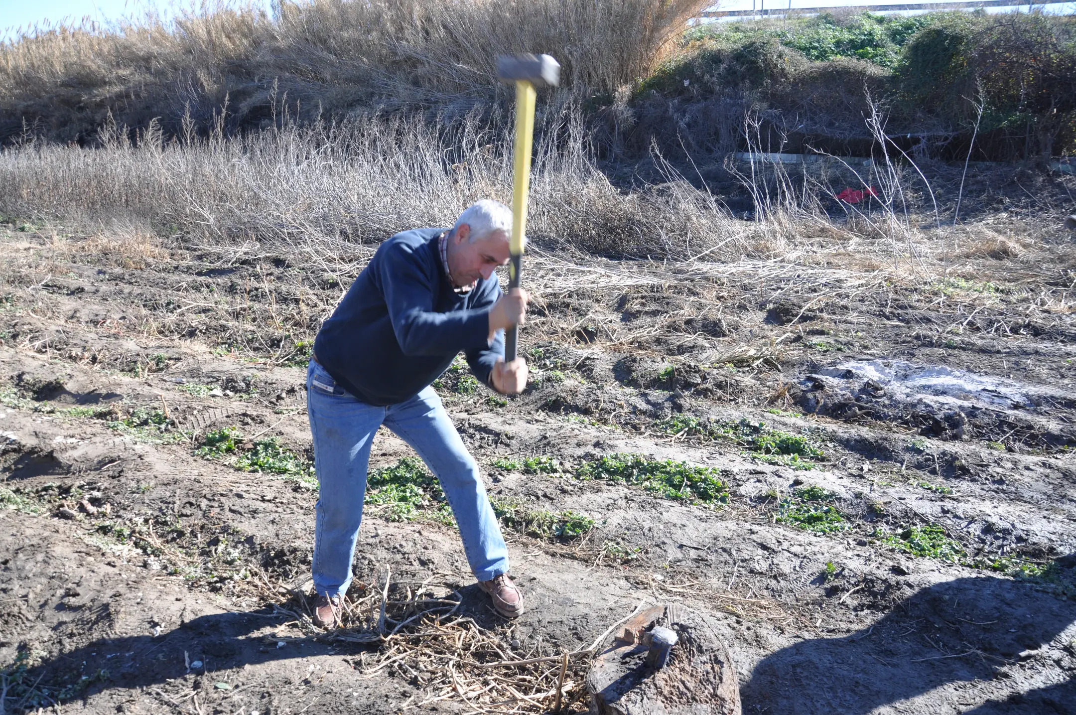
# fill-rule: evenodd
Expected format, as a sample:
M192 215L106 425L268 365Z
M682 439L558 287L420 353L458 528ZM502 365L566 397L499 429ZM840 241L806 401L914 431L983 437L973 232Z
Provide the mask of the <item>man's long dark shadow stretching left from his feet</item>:
M457 614L485 628L502 622L477 585L459 589L464 602ZM303 611L294 600L294 613ZM107 611L103 608L102 611ZM266 606L257 611L200 616L157 636L128 635L91 641L28 669L13 669L0 713L19 713L60 702L89 698L112 688L144 689L190 676L221 679L215 673L243 665L286 661L317 655L349 655L379 646L334 641L330 633L302 639L274 637L277 628L294 621L294 613ZM299 671L300 673L302 671ZM295 671L282 673L295 676ZM299 675L300 679L302 675ZM86 678L86 679L82 679ZM268 686L269 684L267 684ZM189 687L189 686L187 686ZM24 696L32 690L29 697ZM66 692L65 692L66 691ZM59 693L63 692L62 696ZM42 696L46 696L42 698Z

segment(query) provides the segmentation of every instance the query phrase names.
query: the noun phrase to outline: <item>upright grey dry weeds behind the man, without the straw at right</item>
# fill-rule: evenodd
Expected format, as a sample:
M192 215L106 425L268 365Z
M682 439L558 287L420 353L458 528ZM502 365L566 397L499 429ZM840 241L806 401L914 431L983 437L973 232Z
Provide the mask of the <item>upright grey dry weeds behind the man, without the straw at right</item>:
M589 156L578 115L561 146L542 142L532 179L538 246L617 256L708 260L788 250L787 232L735 221L679 178L623 193ZM137 144L105 136L100 150L30 145L0 155L0 210L20 216L153 226L232 256L274 251L360 260L371 244L416 225L451 225L481 197L510 200L509 137L477 121L451 128L419 118L288 125L243 138ZM776 224L774 225L776 227ZM755 239L758 241L758 239Z

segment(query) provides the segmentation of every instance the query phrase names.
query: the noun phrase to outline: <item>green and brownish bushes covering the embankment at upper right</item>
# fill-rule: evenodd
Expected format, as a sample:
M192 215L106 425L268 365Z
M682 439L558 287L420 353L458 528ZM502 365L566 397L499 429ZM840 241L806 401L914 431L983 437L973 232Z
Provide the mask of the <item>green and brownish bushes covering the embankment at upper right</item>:
M808 134L864 138L868 94L891 132L969 139L981 104L978 156L1045 159L1076 151L1076 22L943 12L716 23L689 30L636 101L652 93L722 97L771 110L776 126L794 115Z

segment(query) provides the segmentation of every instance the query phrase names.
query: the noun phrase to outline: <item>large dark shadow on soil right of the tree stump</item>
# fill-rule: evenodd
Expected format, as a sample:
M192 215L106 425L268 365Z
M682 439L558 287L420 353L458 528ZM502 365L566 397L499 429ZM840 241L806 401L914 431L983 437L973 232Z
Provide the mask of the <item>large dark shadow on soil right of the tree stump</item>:
M1076 583L1076 555L1058 566ZM1059 651L1038 653L1074 622L1076 603L1034 583L985 575L936 584L850 636L803 641L764 658L741 688L744 713L865 715L964 684L946 691L938 712L1076 715L1072 671L1047 659ZM1067 648L1066 662L1076 663L1076 645ZM1009 665L1019 662L1014 674ZM1052 671L1044 679L1054 683L1021 695L1029 671ZM975 706L983 690L991 699Z

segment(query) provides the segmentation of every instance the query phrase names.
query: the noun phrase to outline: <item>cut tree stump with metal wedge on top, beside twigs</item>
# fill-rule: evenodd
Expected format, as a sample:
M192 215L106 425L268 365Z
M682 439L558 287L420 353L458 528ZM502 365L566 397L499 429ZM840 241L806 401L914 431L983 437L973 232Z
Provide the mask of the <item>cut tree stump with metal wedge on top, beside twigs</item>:
M640 621L641 619L641 621ZM601 651L586 675L595 715L740 715L739 683L728 649L705 616L683 608L651 608ZM632 628L634 626L634 628ZM636 633L664 626L679 641L661 670L646 664L647 646Z

